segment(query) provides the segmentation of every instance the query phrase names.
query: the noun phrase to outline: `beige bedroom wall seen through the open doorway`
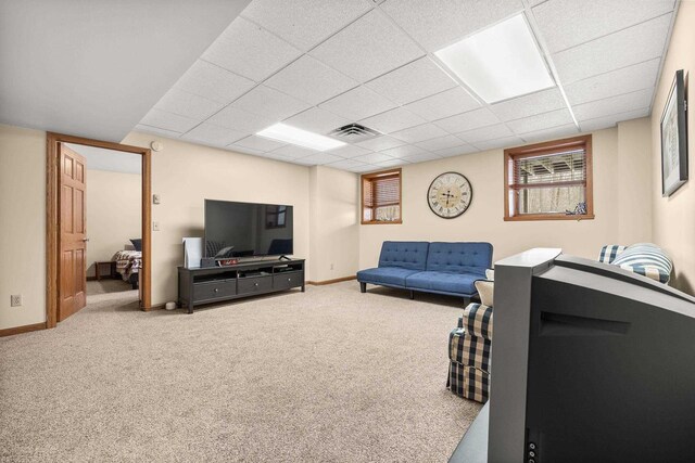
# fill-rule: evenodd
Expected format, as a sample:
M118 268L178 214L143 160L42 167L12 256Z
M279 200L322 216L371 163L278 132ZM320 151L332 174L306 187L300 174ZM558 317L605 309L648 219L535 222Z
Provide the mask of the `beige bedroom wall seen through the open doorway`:
M94 275L96 261L111 260L131 237L140 237L141 197L139 173L87 169L87 276Z

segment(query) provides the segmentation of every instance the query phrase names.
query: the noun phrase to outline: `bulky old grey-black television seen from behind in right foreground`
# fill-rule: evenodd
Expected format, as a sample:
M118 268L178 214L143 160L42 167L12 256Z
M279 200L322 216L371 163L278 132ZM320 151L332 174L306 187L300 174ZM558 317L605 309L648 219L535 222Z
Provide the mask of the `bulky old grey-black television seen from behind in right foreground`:
M495 263L488 461L695 461L695 298L533 249ZM531 453L532 452L532 453Z

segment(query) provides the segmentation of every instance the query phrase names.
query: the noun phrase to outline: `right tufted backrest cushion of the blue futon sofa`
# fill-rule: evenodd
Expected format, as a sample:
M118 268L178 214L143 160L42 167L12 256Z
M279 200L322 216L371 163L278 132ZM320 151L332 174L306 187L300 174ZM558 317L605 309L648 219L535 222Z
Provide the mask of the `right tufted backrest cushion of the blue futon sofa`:
M485 269L491 267L490 243L430 243L426 267L428 271L484 275Z

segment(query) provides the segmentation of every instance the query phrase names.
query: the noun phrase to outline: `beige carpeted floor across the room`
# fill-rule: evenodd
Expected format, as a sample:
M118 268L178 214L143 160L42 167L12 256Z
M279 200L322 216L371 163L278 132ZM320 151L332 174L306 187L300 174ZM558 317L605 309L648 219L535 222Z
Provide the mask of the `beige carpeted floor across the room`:
M0 461L444 462L480 410L444 387L453 298L352 281L192 316L88 303L0 338Z

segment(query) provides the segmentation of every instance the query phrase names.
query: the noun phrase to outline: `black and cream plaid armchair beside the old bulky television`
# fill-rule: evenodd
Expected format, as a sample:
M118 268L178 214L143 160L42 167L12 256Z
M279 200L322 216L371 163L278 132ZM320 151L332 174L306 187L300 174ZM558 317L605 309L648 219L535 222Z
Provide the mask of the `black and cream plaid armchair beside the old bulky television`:
M446 387L457 396L486 402L490 395L492 307L471 303L448 335Z

